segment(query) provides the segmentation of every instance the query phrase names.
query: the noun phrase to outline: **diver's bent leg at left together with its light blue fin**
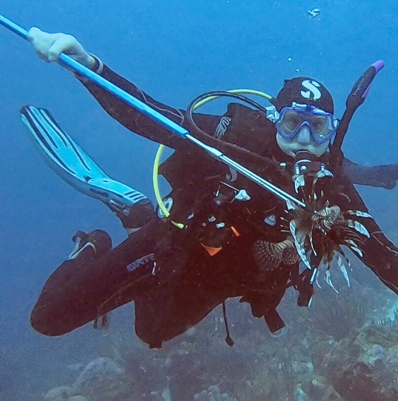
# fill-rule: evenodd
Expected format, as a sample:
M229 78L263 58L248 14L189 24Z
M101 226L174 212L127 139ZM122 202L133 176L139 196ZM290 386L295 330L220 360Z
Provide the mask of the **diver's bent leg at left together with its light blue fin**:
M21 118L50 168L75 189L102 201L129 234L111 250L105 232L77 233L77 248L50 276L32 312L32 326L56 336L131 301L137 283L151 281L157 224L149 199L106 175L47 110L25 106Z

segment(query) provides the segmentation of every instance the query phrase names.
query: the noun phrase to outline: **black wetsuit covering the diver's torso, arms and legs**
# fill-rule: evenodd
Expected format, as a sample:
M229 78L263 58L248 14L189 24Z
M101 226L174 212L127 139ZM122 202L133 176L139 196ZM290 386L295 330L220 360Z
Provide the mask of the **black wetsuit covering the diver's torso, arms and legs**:
M106 66L101 75L190 129L185 111L154 101ZM216 305L233 296L242 296L242 300L250 302L254 316L264 316L271 331L283 327L275 308L286 287L295 285L304 298L311 290L302 284L298 264L282 263L272 271L259 271L252 245L257 239L278 242L286 238L279 225L285 213L284 202L238 174L230 183L245 188L250 200L226 202L217 207L214 193L217 194L220 181L231 174L226 166L91 81L81 80L104 110L129 130L176 150L160 166L160 172L173 187L171 218L186 224L187 229L180 230L153 214L145 227L133 232L113 250L109 246L96 254L89 247L76 259L65 261L43 289L32 313L33 327L49 336L61 335L134 300L137 334L151 346L161 346L162 341L197 324ZM291 162L275 141L274 124L259 111L231 103L224 116L196 114L194 119L201 129L217 138L220 150L232 158L242 156L241 147L269 158L267 161L274 158L278 163ZM248 166L245 160L238 161ZM348 176L354 183L387 188L394 187L397 179L397 172L392 172L389 166L364 169L346 160L344 168L346 172L341 168L336 173L336 180L343 188L336 197L341 196L331 202L349 201L352 209L367 211ZM264 169L266 174L267 167ZM275 172L275 166L271 170ZM274 183L294 194L289 174L280 174L280 180L278 174L276 178L274 174ZM221 187L228 188L223 184ZM226 192L228 198L228 189ZM216 225L220 223L224 226L218 231ZM397 248L373 220L363 223L371 237L365 241L362 260L398 293ZM206 243L209 231L215 237L222 232L223 249L213 256L203 246L217 245L211 244L214 239L211 237ZM305 303L304 300L302 304Z

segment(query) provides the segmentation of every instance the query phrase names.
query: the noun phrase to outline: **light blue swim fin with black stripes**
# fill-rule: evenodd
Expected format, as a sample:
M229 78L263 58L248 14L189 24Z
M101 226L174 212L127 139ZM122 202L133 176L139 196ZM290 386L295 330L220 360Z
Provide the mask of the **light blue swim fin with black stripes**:
M103 172L58 125L48 110L24 106L20 113L46 163L78 191L99 199L113 212L123 213L125 216L129 216L131 208L137 202L148 199Z

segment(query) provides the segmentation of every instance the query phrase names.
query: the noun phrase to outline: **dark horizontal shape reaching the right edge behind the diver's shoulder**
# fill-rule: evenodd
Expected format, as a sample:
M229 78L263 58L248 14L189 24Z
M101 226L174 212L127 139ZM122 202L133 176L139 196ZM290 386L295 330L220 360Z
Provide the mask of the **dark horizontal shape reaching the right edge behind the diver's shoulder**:
M398 179L398 164L364 167L348 159L343 161L344 172L354 184L392 189Z

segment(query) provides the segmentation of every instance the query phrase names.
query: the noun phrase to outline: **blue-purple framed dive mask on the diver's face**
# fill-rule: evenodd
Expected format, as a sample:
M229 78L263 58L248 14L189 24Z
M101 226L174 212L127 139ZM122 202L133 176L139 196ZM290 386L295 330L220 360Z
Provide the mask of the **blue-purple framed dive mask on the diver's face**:
M292 107L284 107L280 113L275 109L269 110L267 117L275 122L276 129L283 139L290 141L305 125L318 144L332 139L339 122L332 114L322 109L295 102Z

